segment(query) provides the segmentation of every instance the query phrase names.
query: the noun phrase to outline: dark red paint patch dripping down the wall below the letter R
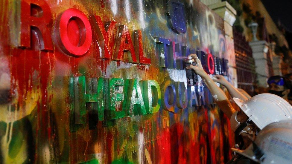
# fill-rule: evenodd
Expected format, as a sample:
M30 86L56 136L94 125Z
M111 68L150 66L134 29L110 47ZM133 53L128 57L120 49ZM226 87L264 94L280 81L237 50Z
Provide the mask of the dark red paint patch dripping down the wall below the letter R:
M37 101L37 126L36 150L38 150L39 143L46 143L50 139L51 129L49 129L49 115L48 115L48 90L52 70L54 70L54 56L53 53L39 50L39 38L34 31L31 32L31 48L20 49L14 48L10 50L9 68L11 71L11 90L13 95L17 95L16 99L20 109L25 107L25 101L37 95L29 96L30 94L40 93ZM33 90L37 92L33 92ZM29 96L29 97L28 97ZM41 137L39 137L41 136ZM35 160L37 159L35 154Z

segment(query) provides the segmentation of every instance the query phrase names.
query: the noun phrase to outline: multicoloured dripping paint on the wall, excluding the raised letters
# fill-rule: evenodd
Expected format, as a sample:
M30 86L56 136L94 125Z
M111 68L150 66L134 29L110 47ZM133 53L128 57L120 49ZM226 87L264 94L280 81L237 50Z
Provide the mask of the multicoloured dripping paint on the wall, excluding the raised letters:
M19 47L18 31L23 32L20 19L25 16L21 14L23 10L19 10L21 2L0 2L1 96L10 95L0 105L1 162L226 162L230 157L229 148L233 146L228 119L213 104L212 96L200 78L198 85L187 87L185 71L179 68L179 64L174 68L162 67L161 54L155 42L155 38L161 37L180 46L229 59L223 20L218 15L199 1L182 1L186 23L184 31L171 29L165 13L165 1L48 0L42 3L49 7L49 11L43 14L51 14L47 15L51 17L47 25L49 32L39 38L39 31L33 29L31 39L24 39L22 47ZM113 37L101 47L99 34L91 24L92 41L88 51L80 56L72 55L76 53L74 51L65 52L62 44L58 43L60 37L56 28L62 13L71 8L82 11L88 21L90 16L96 15L101 18L101 23L116 22L111 27ZM38 13L37 7L32 13ZM177 16L183 18L181 13ZM121 59L114 55L119 26L123 24L127 25L132 42L135 42L135 31L142 34L140 39L145 58L139 58L138 64L130 63L134 56L124 55ZM74 21L69 25L67 31L76 34L69 36L71 44L77 45L82 35L80 26ZM180 27L180 22L173 26ZM40 39L46 40L44 45L39 42ZM109 54L102 56L100 50L105 46ZM121 61L112 61L115 58ZM150 58L151 65L147 65L147 58ZM87 110L85 123L72 132L69 81L80 76L86 79L155 80L161 89L168 81L183 82L189 88L188 99L191 91L197 94L193 94L191 102L188 101L188 108L177 108L174 102L168 110L161 105L154 114L97 121L98 116ZM122 91L123 87L116 89ZM10 91L10 94L5 91ZM168 91L162 94L169 96ZM117 109L122 105L122 102L117 104ZM91 121L96 126L90 127Z

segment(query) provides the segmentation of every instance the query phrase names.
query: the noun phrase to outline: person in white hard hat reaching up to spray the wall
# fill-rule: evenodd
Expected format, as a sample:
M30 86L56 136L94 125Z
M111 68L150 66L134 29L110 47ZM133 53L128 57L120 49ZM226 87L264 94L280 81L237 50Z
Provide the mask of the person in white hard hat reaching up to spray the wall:
M255 138L256 134L266 125L285 119L292 119L292 106L283 98L275 94L258 94L250 99L233 100L240 107L240 111L230 104L224 92L212 81L211 77L203 70L200 59L196 54L191 54L197 64L189 65L188 69L193 69L203 79L213 99L230 119L231 129L235 132L235 137L240 148L247 147Z

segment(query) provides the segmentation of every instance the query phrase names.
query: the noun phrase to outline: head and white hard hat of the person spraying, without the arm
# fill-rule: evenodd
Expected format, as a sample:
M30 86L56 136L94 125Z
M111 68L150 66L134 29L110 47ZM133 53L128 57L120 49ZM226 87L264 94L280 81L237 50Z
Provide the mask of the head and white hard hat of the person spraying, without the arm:
M250 136L254 138L266 125L292 119L292 106L285 99L274 94L258 94L245 101L238 98L233 100L248 117L244 122L239 122L236 116L230 119L235 134L240 135L243 132L245 132L243 135L250 134L243 138L245 144L250 144Z

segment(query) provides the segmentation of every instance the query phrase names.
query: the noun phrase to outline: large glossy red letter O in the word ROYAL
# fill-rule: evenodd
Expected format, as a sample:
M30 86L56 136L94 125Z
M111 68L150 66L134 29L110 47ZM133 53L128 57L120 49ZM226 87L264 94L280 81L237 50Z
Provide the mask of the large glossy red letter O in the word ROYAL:
M91 45L92 31L89 20L80 10L64 11L57 27L58 45L71 56L85 54Z

